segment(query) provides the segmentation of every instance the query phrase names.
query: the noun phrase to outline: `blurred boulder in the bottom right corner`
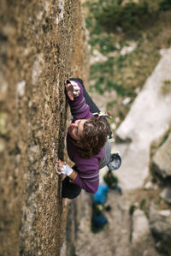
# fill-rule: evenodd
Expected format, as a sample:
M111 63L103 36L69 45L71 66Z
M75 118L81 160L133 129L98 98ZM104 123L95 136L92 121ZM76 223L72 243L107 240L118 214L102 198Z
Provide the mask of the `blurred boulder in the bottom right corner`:
M156 239L156 247L162 253L171 252L171 211L156 210L156 205L150 205L150 229Z

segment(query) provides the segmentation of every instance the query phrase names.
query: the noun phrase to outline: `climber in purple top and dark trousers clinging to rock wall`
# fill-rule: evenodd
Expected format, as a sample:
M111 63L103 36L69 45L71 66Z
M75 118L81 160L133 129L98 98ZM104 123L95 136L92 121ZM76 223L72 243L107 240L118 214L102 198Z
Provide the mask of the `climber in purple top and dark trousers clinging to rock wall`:
M57 159L56 174L66 175L62 197L74 199L82 188L89 193L97 192L99 170L109 164L111 131L106 117L99 114L97 105L85 91L83 80L67 80L65 93L73 116L68 127L67 150L74 166L71 168Z

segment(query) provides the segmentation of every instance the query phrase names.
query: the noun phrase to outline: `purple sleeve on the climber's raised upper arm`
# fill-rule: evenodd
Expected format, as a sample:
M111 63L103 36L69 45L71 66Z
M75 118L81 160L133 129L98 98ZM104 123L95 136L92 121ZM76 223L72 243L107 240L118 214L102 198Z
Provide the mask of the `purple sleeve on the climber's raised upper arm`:
M90 112L89 105L85 103L85 97L83 96L83 87L78 81L74 82L77 83L80 87L80 94L78 97L74 97L74 100L70 100L67 95L67 90L65 90L72 116L74 116L74 119L88 119L93 117Z

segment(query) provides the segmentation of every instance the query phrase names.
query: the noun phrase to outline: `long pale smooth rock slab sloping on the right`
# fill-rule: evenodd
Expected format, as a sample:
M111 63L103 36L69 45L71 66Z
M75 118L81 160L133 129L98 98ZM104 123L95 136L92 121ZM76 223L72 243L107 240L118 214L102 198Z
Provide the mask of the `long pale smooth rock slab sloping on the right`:
M158 139L171 123L171 49L162 57L146 80L131 110L116 134L124 143L114 146L122 153L121 169L115 173L122 188L139 188L149 174L150 143Z

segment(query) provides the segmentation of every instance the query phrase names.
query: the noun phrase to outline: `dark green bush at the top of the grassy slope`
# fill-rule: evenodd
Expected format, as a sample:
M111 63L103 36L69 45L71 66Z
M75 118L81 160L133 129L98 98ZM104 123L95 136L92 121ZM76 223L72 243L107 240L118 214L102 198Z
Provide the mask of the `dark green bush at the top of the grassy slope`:
M107 5L95 14L97 23L105 31L115 33L121 27L128 36L135 36L145 27L151 27L158 17L158 10L150 9L147 1Z

